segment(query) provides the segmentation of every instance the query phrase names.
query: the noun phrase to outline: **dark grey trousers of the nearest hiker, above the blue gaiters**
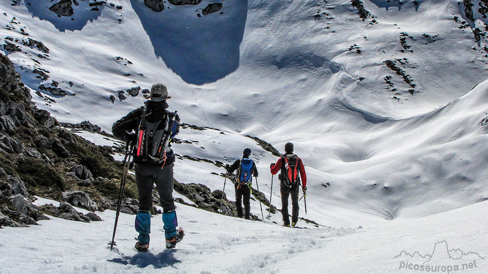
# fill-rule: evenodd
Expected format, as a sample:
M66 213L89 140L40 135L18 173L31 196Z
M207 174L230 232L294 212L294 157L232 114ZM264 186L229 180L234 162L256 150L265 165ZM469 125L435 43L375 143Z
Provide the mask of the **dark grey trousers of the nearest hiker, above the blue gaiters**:
M173 166L169 164L161 169L161 166L135 164L136 184L139 190L139 210L149 211L152 207L152 190L156 183L161 205L164 212L175 209L173 199Z

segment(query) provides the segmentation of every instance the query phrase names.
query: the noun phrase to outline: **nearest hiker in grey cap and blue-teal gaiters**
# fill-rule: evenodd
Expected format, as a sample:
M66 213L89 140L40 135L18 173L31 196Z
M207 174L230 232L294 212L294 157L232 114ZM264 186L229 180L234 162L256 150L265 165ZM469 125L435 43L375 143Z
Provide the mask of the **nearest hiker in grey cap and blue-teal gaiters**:
M136 249L147 251L151 233L151 214L153 185L160 194L163 206L164 234L166 248L174 248L183 236L177 229L175 203L173 199L173 166L175 155L169 142L180 132L180 117L166 110L169 106L166 86L154 84L150 99L144 106L132 110L112 126L114 136L125 141L133 141L132 151L136 169L136 184L139 191L139 211L135 228L139 233ZM136 133L132 133L136 131Z

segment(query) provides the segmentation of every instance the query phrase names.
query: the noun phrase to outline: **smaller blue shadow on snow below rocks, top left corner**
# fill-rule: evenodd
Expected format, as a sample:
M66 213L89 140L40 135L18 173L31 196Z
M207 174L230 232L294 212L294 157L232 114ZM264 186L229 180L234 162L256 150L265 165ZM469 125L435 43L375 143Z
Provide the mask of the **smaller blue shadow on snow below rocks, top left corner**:
M98 11L91 10L93 7L89 6L89 1L78 1L79 5L73 7L72 16L61 16L51 11L49 8L59 1L51 0L24 0L24 5L32 17L37 17L41 20L51 22L60 32L66 30L75 31L81 30L88 23L88 21L96 20L102 14L104 5L99 6Z

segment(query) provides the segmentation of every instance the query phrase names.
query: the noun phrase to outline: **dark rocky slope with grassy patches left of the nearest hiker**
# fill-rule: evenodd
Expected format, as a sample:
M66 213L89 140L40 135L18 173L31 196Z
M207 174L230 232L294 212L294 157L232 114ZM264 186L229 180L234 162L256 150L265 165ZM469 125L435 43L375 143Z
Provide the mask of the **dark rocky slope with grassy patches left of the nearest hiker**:
M34 41L28 43L42 47ZM30 90L21 82L14 64L0 54L0 224L26 226L48 219L31 203L30 195L58 200L66 192L65 200L88 210L115 209L116 202L107 197L118 192L116 182L122 167L115 163L112 148L96 146L61 128L48 111L37 109L31 99ZM103 133L86 121L74 126ZM81 181L75 172L73 176L67 174L71 167L80 165L84 168L78 176L88 178L84 180L89 182ZM137 190L134 179L129 177L125 197L132 199ZM104 201L103 206L84 193L69 192L79 189L80 182L88 185L84 187L91 198Z

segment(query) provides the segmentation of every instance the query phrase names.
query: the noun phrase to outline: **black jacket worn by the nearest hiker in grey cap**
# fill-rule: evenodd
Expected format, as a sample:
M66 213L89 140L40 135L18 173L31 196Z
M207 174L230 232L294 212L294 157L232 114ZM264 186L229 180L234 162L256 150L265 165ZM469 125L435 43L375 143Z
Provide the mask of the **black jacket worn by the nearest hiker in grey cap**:
M149 123L155 123L162 120L165 116L167 111L166 109L169 107L165 101L162 102L153 102L147 101L146 103L147 110L146 110L146 121ZM124 141L128 141L129 138L135 138L135 134L130 134L132 131L136 131L139 128L139 124L142 118L142 111L144 106L132 110L127 115L122 117L119 121L115 122L112 126L112 134ZM163 124L161 124L163 126ZM177 114L175 118L175 123L173 125L173 130L171 134L171 139L173 139L179 132L180 132L180 116ZM134 140L135 141L135 140ZM171 145L170 145L171 146ZM171 164L175 161L175 155L173 150L170 148L166 152L167 161L165 165ZM134 163L142 164L141 160L134 158ZM147 164L157 164L151 161L144 162Z

